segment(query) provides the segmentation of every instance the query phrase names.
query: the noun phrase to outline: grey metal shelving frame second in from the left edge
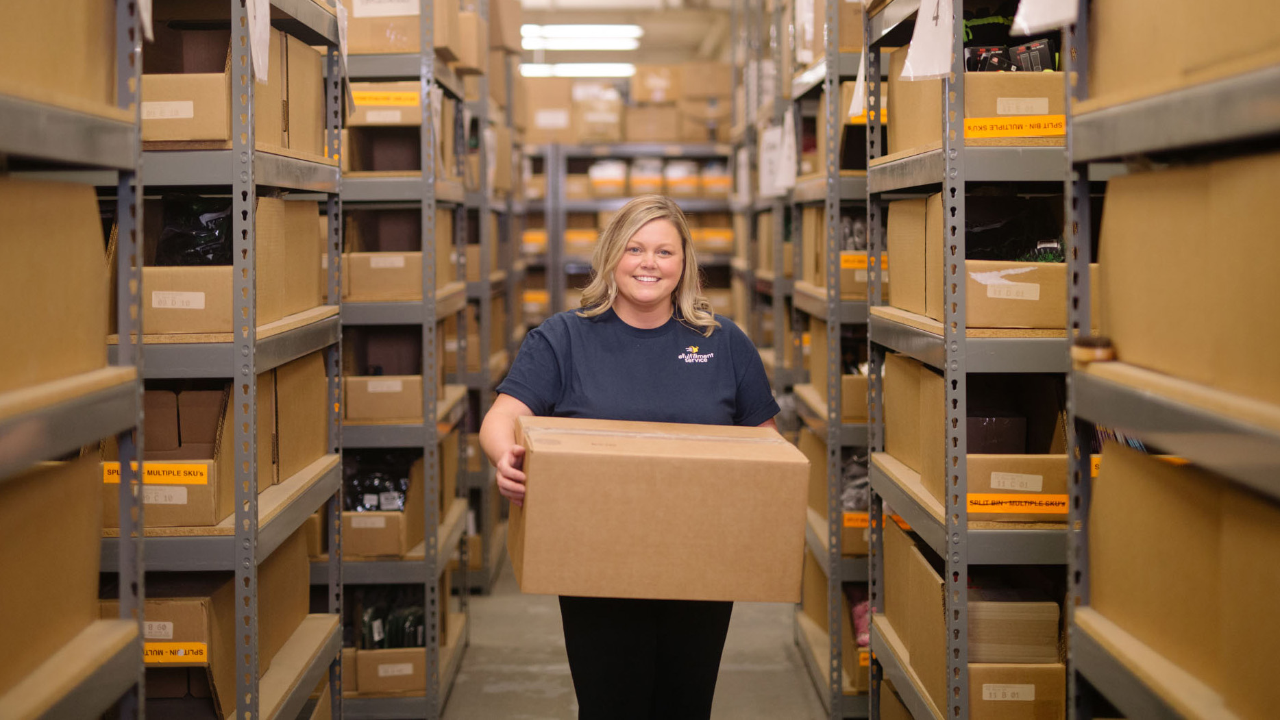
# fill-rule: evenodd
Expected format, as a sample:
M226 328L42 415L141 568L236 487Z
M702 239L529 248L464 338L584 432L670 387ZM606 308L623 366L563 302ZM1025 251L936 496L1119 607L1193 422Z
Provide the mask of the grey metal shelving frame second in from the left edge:
M325 148L329 157L340 152L338 113L342 92L342 61L338 47L338 22L328 10L303 0L273 0L273 10L282 13L273 19L276 29L296 33L301 40L325 45ZM182 187L195 192L232 194L233 253L233 312L244 320L255 333L228 334L220 341L166 343L160 338L147 338L142 348L147 379L227 377L237 400L234 407L234 477L236 512L221 524L198 536L174 537L163 528L148 531L148 570L234 570L236 606L241 609L246 643L244 652L237 653L236 693L237 714L256 717L292 716L306 703L316 683L328 674L333 711L340 712L342 665L338 615L342 613L342 577L338 569L329 582L328 615L310 615L294 632L285 647L296 647L310 657L298 666L276 664L259 678L259 618L257 568L285 538L302 526L306 518L320 508L328 508L329 546L342 546L339 514L342 487L339 482L340 423L340 336L337 307L319 307L296 316L301 325L276 334L257 327L256 298L256 228L255 210L260 188L273 188L285 193L323 193L325 215L329 219L328 267L334 269L328 279L328 293L334 304L340 303L339 247L342 242L339 171L337 165L287 157L256 150L255 145L255 86L250 52L247 9L241 3L230 3L232 47L237 55L232 63L232 86L247 87L233 101L238 110L232 113L230 150L166 150L146 151L142 161L143 182L160 187ZM300 200L314 201L314 196ZM124 237L123 229L120 237ZM122 254L125 254L122 251ZM124 283L122 283L122 288ZM122 289L123 292L123 289ZM122 325L123 326L123 325ZM115 350L122 353L128 335ZM204 339L204 338L201 338ZM305 471L278 486L257 492L257 382L260 372L278 367L305 354L323 350L329 405L326 446L329 454L321 457ZM119 540L105 538L102 568L124 568L113 561L110 549ZM123 583L122 583L123 584Z

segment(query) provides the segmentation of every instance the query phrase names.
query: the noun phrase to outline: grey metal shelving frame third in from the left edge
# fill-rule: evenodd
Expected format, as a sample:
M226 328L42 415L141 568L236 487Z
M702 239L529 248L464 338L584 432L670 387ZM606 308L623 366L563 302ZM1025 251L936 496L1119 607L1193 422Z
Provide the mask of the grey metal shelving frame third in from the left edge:
M456 1L456 0L440 0ZM419 0L419 37L434 35L435 0ZM438 63L435 49L424 42L420 52L396 55L352 55L348 59L348 74L358 81L417 81L421 118L419 124L420 173L404 173L399 176L383 174L365 175L355 173L342 182L342 201L348 207L365 210L417 210L421 217L421 256L422 286L421 301L408 302L347 302L342 306L343 326L376 325L416 325L421 329L422 343L422 422L407 423L343 423L343 448L421 448L422 450L422 494L425 540L412 549L402 560L367 563L342 560L340 552L330 546L325 561L312 563L311 583L333 583L340 577L346 584L406 584L421 583L424 588L424 625L426 653L426 684L422 694L407 697L366 698L347 697L342 700L346 717L430 717L443 715L444 702L468 645L468 633L445 652L448 638L435 632L439 628L442 613L448 613L449 588L442 587L444 569L448 565L452 549L458 547L461 526L451 514L453 508L440 508L435 501L439 496L442 478L439 477L439 441L443 435L461 426L466 416L466 403L461 387L445 386L439 394L435 376L443 357L436 356L438 324L449 316L456 317L460 335L465 341L465 317L467 304L466 278L466 192L462 183L436 176L436 152L440 143L435 137L435 114L439 107L430 100L433 88L457 101L457 115L452 132L454 147L458 151L456 169L461 175L465 169L466 143L463 105L465 92L460 78L448 65ZM481 159L481 168L484 166ZM449 212L453 216L453 246L458 258L458 280L436 288L435 265L435 216L436 212ZM484 223L481 223L484 233ZM465 347L458 350L465 357ZM460 462L466 444L460 442ZM454 505L461 503L454 501ZM454 513L456 514L456 513ZM466 552L465 545L462 552ZM468 614L467 599L461 597L463 616ZM465 624L465 623L463 623Z

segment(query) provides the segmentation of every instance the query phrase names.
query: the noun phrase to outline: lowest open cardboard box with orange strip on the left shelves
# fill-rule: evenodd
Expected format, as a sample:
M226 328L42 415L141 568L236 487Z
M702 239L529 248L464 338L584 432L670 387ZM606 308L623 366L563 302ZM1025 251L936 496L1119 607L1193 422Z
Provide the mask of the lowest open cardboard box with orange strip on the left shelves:
M257 569L259 677L302 624L310 605L311 564L302 529L294 531ZM114 592L113 592L114 595ZM102 618L119 615L118 600L99 604ZM236 577L232 573L147 573L148 670L189 656L200 685L209 685L218 717L236 707ZM202 670L202 671L201 671ZM148 674L150 675L150 674ZM192 692L196 694L196 692ZM197 697L204 697L201 692Z

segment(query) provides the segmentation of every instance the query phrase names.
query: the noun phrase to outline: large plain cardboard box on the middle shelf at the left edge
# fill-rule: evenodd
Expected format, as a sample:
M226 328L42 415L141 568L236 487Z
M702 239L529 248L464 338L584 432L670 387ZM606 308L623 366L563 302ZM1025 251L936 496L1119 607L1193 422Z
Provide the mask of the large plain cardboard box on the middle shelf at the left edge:
M3 51L0 51L3 52ZM106 366L109 266L91 185L0 178L0 393ZM113 306L114 307L114 306Z

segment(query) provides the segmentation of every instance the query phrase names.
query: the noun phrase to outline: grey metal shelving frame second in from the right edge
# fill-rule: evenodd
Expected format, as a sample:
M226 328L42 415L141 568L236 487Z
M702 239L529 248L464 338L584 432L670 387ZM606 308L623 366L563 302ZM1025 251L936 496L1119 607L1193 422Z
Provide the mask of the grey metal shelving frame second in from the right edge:
M972 564L1064 564L1066 529L988 529L987 524L970 526L968 517L966 425L968 376L977 372L1029 373L1066 372L1069 370L1065 331L969 331L964 283L945 284L942 322L904 313L882 303L883 269L877 258L886 248L887 197L892 194L942 193L943 216L951 238L950 251L965 257L965 184L966 183L1060 183L1066 171L1061 147L966 147L964 138L964 13L963 3L943 3L952 20L951 73L941 84L942 146L932 151L877 162L886 155L882 118L868 115L867 128L867 193L869 271L869 338L870 345L870 442L872 442L872 716L878 715L881 683L893 682L902 701L916 717L969 717L969 622L966 593ZM904 46L911 36L911 23L922 9L919 0L891 0L864 20L867 58L868 107L882 106L882 60L874 51L883 46ZM946 379L946 467L950 471L945 503L932 497L919 474L884 453L883 367L888 350L910 356L943 372ZM929 418L942 422L943 418ZM915 670L900 656L901 643L882 615L883 613L883 527L884 504L910 523L943 559L946 570L946 698L945 707L936 707L924 692ZM955 599L960 599L956 601Z

